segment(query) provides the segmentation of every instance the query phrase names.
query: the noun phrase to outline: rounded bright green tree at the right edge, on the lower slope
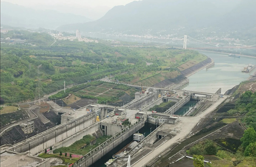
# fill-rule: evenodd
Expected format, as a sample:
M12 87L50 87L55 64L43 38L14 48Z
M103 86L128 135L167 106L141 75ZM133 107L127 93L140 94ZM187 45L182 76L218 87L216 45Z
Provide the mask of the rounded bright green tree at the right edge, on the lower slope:
M256 142L256 132L253 128L248 128L245 130L243 137L240 139L242 143L243 149L246 149L246 147L250 143Z

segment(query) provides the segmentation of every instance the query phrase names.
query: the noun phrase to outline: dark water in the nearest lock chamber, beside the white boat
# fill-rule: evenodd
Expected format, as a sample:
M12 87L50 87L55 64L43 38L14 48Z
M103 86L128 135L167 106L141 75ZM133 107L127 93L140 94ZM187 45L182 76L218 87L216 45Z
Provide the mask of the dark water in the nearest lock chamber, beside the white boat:
M145 136L147 136L150 134L150 128L151 128L151 132L153 132L153 130L156 129L156 126L146 122L144 127L142 127L140 130L138 130L138 132L141 134L145 133ZM117 153L120 149L125 147L131 141L133 141L133 136L129 137L123 143L119 144L117 147L112 149L110 152L108 152L106 155L104 155L104 157L102 157L101 159L96 161L94 164L92 164L91 167L106 167L106 165L104 163L107 162L109 159L112 159L112 155Z

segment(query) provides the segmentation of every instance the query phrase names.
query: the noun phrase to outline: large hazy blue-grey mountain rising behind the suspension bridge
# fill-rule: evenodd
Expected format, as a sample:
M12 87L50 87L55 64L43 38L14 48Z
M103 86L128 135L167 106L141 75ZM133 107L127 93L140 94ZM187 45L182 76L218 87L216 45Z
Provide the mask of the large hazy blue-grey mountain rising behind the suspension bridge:
M115 6L99 20L60 31L159 33L178 29L242 30L256 27L255 0L142 0Z

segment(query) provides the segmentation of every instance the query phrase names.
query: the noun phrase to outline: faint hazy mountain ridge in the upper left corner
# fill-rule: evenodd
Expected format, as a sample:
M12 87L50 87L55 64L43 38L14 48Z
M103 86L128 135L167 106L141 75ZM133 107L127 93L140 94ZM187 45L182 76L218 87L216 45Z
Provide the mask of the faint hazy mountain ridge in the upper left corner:
M56 29L65 24L86 23L91 19L55 10L35 10L1 2L1 24L13 27Z

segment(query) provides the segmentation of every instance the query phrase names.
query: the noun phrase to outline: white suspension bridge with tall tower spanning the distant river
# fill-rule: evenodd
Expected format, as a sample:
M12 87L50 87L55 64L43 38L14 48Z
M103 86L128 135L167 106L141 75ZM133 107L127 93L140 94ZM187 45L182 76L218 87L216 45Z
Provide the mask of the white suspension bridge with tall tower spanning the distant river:
M166 46L166 45L176 46L176 47L180 47L180 48L183 45L184 49L256 48L256 45L252 45L252 46L221 46L218 43L204 42L204 41L192 38L188 35L174 38L173 40L161 45L161 47Z

